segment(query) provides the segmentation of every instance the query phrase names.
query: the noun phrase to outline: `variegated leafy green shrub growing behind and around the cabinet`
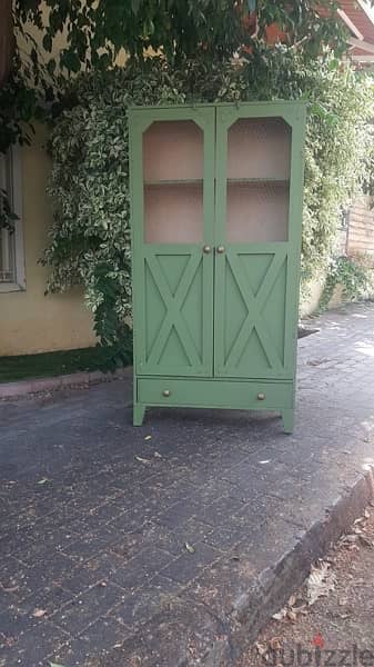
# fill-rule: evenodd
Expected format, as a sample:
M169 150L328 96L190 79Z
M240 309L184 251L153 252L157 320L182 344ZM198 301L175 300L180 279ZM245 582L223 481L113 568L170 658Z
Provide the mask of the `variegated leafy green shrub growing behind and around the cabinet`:
M121 360L131 316L129 104L303 99L309 103L303 221L303 282L331 257L340 209L367 181L374 116L373 80L325 53L305 62L295 48L259 48L249 59L171 69L159 58L143 69L80 76L52 130L49 193L54 222L44 263L49 289L83 283L104 345Z

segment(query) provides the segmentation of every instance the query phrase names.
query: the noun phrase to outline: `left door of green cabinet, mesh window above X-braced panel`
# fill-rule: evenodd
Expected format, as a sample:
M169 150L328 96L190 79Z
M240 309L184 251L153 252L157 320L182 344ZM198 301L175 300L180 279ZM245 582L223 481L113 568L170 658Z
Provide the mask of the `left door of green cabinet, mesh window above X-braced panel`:
M130 112L138 376L213 374L214 117Z

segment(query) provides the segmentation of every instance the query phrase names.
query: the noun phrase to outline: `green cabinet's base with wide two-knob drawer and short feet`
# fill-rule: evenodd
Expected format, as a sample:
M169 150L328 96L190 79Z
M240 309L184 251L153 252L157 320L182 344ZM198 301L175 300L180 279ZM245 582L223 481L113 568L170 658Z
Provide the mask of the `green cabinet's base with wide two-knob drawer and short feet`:
M134 381L134 426L143 424L146 407L180 407L275 411L284 432L294 428L293 380L138 377Z

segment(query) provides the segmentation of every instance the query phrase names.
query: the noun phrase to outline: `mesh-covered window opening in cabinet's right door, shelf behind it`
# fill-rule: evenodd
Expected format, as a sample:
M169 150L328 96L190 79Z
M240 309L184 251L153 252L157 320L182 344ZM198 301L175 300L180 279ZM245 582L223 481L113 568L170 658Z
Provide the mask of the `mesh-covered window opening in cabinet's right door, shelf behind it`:
M287 240L291 130L277 118L241 118L228 130L226 240Z

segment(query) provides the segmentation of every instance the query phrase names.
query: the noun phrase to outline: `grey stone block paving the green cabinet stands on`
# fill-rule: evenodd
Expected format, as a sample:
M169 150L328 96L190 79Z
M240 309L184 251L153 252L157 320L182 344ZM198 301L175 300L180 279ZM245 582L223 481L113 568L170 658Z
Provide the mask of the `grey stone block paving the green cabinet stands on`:
M198 665L240 625L374 458L374 305L315 323L292 436L242 411L133 428L129 378L0 404L1 667Z

